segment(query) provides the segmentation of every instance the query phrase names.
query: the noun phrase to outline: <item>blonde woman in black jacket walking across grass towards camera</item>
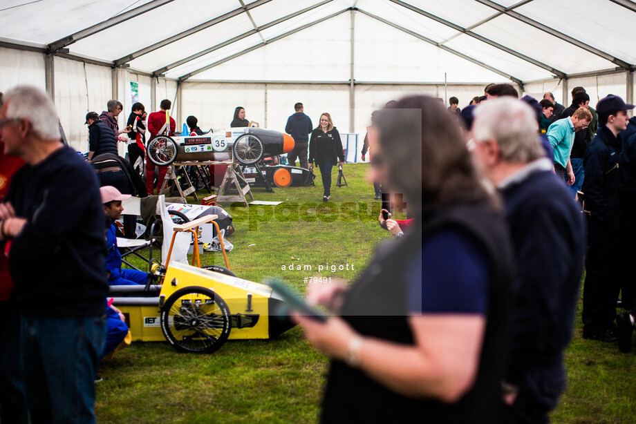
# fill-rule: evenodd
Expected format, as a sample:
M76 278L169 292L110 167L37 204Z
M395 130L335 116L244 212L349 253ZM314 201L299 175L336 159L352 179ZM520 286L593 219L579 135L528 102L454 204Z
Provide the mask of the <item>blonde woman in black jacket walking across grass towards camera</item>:
M320 168L322 186L324 187L323 202L327 202L331 198L331 168L337 160L339 160L340 166L344 164L340 133L333 126L331 115L325 112L320 115L318 127L311 132L308 160L310 168L314 162Z

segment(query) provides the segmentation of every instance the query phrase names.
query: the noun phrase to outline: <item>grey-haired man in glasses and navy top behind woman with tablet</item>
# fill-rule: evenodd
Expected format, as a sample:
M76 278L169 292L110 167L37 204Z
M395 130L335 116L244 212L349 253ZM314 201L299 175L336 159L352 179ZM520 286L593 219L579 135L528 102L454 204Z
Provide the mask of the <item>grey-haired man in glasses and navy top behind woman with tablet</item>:
M478 106L473 125L473 152L503 196L517 266L505 423L546 423L557 406L583 269L583 222L537 129L532 109L512 97Z

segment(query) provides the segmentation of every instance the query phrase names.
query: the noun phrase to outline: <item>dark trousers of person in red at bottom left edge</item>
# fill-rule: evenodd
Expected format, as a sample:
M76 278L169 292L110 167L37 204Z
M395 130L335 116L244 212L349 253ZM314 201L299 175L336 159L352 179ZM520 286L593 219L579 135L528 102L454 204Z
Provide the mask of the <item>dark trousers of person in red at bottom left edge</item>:
M27 424L20 316L14 303L8 300L0 301L0 340L0 421Z

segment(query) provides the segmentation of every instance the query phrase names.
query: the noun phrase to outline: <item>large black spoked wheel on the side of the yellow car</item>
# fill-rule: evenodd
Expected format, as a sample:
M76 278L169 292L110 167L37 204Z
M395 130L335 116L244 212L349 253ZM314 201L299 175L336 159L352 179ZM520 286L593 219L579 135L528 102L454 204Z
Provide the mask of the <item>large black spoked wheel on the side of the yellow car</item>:
M174 349L211 354L230 336L230 308L214 291L184 287L168 298L161 311L161 329Z

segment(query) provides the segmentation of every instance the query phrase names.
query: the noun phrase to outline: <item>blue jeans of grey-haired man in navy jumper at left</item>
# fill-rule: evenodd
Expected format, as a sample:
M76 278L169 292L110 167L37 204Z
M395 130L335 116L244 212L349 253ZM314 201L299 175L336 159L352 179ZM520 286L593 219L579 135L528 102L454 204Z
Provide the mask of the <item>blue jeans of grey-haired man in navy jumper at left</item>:
M95 423L95 371L106 320L20 319L30 417L37 423Z

